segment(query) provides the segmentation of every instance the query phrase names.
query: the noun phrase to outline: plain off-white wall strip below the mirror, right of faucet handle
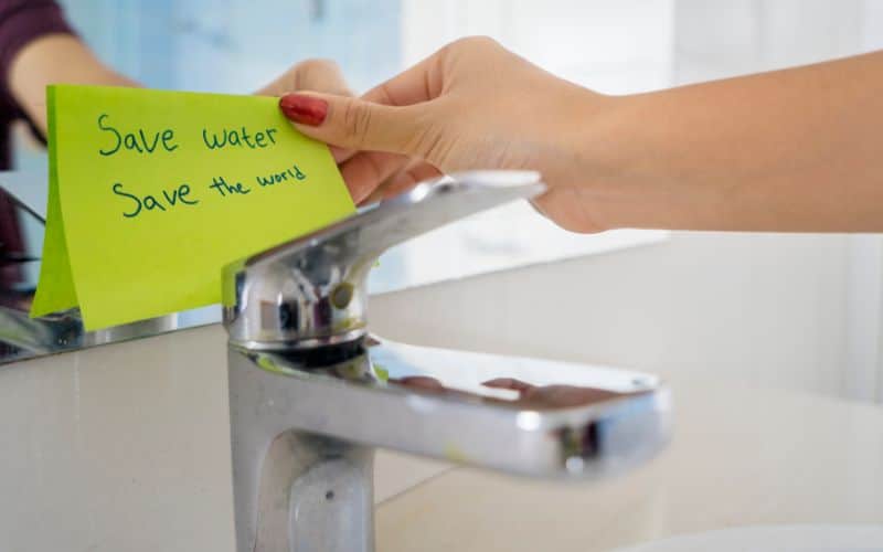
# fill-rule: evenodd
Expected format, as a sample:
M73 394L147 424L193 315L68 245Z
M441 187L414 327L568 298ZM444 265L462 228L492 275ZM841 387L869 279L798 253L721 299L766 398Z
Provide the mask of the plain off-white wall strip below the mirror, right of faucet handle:
M841 235L677 233L668 243L372 298L421 344L839 393Z

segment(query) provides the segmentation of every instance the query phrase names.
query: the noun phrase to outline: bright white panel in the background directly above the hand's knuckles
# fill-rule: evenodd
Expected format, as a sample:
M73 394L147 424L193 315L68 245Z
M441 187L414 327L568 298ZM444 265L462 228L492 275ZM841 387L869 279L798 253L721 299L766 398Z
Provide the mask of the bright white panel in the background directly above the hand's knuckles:
M573 82L608 93L669 86L673 0L402 0L402 61L487 34Z

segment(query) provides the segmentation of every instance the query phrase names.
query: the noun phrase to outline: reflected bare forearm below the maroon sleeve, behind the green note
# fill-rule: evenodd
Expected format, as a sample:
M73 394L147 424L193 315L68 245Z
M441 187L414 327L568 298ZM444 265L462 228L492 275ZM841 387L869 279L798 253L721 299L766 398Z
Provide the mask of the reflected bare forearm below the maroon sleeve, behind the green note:
M51 34L34 40L13 59L9 87L38 128L46 128L45 88L49 84L135 86L136 83L104 65L77 38Z

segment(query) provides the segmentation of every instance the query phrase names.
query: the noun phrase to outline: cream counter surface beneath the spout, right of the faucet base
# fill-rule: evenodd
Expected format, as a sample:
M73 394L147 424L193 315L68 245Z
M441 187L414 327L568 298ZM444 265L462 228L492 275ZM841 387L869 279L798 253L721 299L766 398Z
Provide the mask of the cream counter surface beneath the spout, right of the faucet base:
M741 526L883 526L883 407L671 383L674 438L652 463L597 484L457 468L379 508L377 550L591 552Z

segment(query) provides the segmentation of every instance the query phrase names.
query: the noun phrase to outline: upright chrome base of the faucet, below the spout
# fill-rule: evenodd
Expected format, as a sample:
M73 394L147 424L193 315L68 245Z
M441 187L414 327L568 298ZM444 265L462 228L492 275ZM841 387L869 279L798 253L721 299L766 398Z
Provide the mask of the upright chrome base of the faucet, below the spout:
M374 449L284 422L275 433L268 417L291 406L278 376L234 350L230 383L237 552L373 552Z

